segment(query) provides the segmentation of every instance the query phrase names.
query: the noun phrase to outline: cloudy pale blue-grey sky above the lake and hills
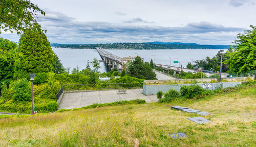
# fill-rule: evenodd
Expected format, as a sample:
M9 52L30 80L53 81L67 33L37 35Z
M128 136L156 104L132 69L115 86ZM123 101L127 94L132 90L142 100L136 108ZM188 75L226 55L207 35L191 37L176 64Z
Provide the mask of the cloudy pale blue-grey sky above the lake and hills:
M256 25L256 0L31 0L51 43L232 44ZM18 41L3 32L1 37Z

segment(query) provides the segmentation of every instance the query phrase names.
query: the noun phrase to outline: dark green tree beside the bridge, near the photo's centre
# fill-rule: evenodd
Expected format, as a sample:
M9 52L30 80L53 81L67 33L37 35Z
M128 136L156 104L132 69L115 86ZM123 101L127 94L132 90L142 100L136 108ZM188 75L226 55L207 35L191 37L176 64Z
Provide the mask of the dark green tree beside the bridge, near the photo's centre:
M144 64L139 56L137 56L135 60L131 62L128 67L128 71L132 77L146 80L156 79L156 74L151 68L150 64L148 62L145 62Z

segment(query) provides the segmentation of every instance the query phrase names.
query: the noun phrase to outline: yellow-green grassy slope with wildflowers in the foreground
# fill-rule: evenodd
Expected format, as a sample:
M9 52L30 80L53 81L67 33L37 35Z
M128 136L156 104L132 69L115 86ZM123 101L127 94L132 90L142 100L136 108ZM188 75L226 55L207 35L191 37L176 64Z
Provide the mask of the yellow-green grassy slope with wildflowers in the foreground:
M255 146L256 89L222 93L204 100L173 104L102 107L26 118L0 119L2 146ZM213 112L199 125L197 114L170 110L180 105ZM184 132L188 138L168 134Z

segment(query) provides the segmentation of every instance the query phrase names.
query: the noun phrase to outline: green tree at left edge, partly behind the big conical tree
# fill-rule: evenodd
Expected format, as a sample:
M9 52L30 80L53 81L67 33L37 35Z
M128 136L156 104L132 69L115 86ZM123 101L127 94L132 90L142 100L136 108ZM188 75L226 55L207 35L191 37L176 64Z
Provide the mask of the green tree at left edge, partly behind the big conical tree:
M16 43L0 38L0 91L2 82L8 86L13 79L16 47Z

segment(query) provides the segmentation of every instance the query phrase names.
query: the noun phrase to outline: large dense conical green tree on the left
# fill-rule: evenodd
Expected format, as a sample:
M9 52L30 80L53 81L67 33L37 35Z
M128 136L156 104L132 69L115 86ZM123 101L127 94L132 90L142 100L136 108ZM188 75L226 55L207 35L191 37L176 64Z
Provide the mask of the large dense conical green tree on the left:
M30 73L55 72L56 57L44 33L27 30L19 39L14 63L14 78L28 78Z

